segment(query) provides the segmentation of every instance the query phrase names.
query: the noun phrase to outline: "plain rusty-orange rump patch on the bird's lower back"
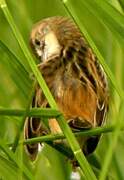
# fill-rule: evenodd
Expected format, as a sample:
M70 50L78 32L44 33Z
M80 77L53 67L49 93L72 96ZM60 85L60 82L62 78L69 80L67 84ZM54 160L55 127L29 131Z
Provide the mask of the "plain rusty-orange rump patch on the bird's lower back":
M53 82L51 92L67 120L79 117L94 126L97 99L90 87L76 78L63 75Z

